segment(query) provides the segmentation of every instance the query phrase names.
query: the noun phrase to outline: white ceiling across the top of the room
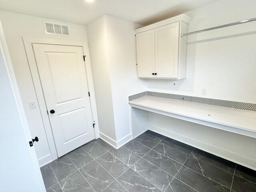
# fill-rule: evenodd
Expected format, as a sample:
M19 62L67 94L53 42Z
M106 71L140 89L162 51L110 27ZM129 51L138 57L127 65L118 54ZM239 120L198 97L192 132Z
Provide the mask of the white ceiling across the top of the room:
M103 14L148 25L218 0L1 0L0 10L86 25Z

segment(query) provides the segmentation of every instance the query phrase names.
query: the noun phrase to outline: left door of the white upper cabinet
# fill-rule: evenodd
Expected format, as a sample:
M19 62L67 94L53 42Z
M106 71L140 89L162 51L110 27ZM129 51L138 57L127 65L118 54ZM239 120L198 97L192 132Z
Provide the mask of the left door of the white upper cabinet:
M155 32L154 29L136 34L138 77L154 78Z

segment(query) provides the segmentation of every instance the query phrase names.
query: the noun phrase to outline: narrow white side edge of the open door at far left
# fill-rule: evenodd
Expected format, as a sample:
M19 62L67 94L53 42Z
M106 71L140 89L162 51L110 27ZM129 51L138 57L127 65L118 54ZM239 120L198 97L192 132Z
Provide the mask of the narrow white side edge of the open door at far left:
M16 104L17 104L17 107L18 107L18 112L20 114L20 120L23 124L22 127L23 127L23 130L24 130L25 136L26 136L26 141L29 142L31 140L30 130L29 130L29 127L28 127L26 114L25 114L25 111L24 111L24 108L23 108L21 97L20 97L18 84L17 84L17 81L16 81L16 77L15 77L15 74L14 74L13 67L12 67L12 62L11 62L11 58L10 58L10 54L9 54L9 51L8 51L8 47L7 47L7 43L6 43L6 40L5 40L4 31L2 29L1 22L0 22L0 51L2 52L2 56L3 56L4 63L5 63L5 66L6 66L6 70L8 72L8 76L9 76L9 79L10 79L10 84L12 85L12 89L13 89L13 92L14 92L14 98L16 100ZM38 175L38 181L39 181L38 183L40 184L40 188L41 188L40 191L45 192L46 190L45 190L45 186L44 186L44 180L42 178L41 170L39 168L38 160L37 160L37 157L36 157L36 151L35 151L34 147L30 147L29 144L28 144L28 148L30 148L30 154L31 154L31 157L28 157L28 158L32 158L32 160L34 162L32 166L34 166L34 168L36 170L36 174Z

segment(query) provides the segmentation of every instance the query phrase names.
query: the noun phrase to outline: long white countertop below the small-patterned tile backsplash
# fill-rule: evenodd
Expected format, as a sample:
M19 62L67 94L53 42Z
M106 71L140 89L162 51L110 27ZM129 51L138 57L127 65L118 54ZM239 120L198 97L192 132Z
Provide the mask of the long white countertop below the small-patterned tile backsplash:
M129 102L131 106L177 114L214 124L256 133L256 112L185 102L180 100L144 96ZM138 107L139 108L139 107Z

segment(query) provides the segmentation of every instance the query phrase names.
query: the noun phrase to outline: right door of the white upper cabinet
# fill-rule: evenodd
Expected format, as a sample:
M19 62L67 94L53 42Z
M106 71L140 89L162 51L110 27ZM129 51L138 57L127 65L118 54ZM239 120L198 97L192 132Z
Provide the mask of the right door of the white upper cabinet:
M179 26L175 22L155 28L156 78L178 78Z

